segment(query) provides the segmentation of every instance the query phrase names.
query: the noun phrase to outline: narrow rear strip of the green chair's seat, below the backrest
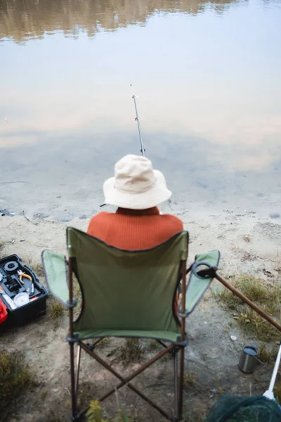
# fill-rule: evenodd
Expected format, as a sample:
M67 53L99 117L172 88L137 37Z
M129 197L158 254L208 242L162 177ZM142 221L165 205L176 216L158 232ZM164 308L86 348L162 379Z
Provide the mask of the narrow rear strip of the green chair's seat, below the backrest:
M84 330L75 331L78 340L86 340L87 338L100 337L134 337L134 338L153 338L157 340L178 343L180 332L173 333L171 331L136 331L136 330Z

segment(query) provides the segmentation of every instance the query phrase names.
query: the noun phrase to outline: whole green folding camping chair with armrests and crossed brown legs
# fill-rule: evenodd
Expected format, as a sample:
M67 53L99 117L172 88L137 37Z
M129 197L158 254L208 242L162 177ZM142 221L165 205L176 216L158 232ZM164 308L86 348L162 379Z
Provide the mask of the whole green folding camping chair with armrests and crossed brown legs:
M216 267L219 252L197 255L195 264L189 269L191 275L187 289L186 231L176 234L155 248L132 252L114 248L82 231L68 227L67 252L68 265L64 255L49 250L42 253L42 261L49 290L69 309L70 328L67 342L70 344L72 420L79 420L89 409L77 410L80 357L81 350L84 350L120 381L115 388L98 399L100 402L112 395L116 389L126 385L167 420L181 421L184 349L188 343L185 318L195 308L212 280L209 272L204 274L204 269L200 275L198 267ZM73 309L77 300L73 298L72 273L77 276L82 293L81 313L75 321ZM180 282L182 298L176 315L174 303ZM150 338L159 341L164 348L131 376L125 378L83 341L91 338L98 339L98 343L101 338L108 337ZM77 345L76 367L74 345ZM172 416L131 384L133 378L167 352L174 354L175 393Z

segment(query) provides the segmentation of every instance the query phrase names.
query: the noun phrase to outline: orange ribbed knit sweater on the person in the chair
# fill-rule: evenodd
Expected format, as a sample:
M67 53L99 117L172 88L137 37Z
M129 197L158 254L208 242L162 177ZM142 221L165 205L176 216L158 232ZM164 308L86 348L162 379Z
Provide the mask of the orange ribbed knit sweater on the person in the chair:
M148 210L118 208L116 213L94 215L87 233L116 248L140 250L153 248L182 230L180 219L174 215L160 215L157 207Z

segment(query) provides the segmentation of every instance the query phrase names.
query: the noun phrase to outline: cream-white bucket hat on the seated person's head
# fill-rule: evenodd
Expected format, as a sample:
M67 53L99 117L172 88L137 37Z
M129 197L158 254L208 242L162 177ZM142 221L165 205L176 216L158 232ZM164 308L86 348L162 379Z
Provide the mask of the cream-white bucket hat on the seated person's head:
M115 164L115 177L103 184L105 203L131 210L145 210L168 200L162 172L152 169L152 162L141 155L125 155Z

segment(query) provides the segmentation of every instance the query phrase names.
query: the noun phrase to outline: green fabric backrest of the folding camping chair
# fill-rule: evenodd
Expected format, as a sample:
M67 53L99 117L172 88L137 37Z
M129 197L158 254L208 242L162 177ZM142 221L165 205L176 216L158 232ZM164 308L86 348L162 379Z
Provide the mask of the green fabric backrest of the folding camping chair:
M188 232L131 252L68 227L67 250L83 295L74 331L178 333L174 298L181 262L188 257Z

